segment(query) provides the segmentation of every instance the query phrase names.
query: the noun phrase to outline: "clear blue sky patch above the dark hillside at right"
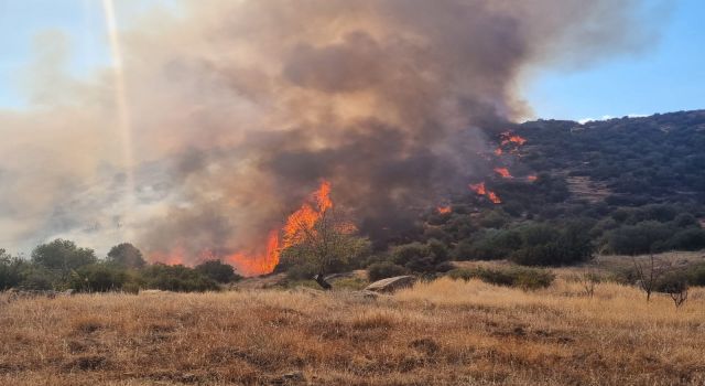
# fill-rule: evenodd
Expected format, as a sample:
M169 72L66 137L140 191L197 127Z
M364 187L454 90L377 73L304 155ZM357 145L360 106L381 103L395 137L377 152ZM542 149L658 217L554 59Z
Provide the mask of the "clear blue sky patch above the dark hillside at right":
M523 86L535 115L587 120L705 108L705 1L673 3L660 41L643 53L540 72Z

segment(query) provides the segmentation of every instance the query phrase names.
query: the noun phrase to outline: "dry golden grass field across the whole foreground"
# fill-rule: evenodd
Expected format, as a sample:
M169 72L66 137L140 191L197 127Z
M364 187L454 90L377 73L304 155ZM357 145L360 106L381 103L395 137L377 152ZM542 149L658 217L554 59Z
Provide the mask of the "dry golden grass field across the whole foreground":
M0 384L705 384L705 291L677 311L629 287L581 292L0 296Z

